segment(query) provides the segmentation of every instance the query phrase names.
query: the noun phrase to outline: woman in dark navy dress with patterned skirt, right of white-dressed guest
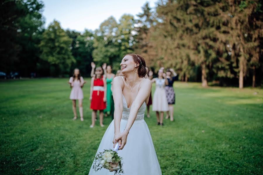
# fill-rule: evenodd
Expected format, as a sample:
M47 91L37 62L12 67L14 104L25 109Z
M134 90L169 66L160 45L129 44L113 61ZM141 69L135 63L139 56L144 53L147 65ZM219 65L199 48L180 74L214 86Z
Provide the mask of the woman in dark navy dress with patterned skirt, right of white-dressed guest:
M166 78L168 80L168 85L165 86L166 98L168 101L169 111L166 112L165 119L170 117L171 121L174 121L174 104L175 104L175 93L173 88L173 83L176 81L177 74L174 72L174 69L167 69L166 70ZM170 115L169 115L170 112Z

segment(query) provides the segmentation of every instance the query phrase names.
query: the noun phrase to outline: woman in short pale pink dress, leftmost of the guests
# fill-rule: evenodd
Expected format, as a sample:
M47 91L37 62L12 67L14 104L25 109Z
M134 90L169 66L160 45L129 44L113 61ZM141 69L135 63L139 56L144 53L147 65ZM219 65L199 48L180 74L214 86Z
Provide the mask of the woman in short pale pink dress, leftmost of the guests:
M83 121L83 92L81 88L83 87L84 83L86 83L86 81L84 81L83 77L80 76L79 69L74 69L73 76L70 77L70 80L68 81L68 84L71 88L70 99L72 100L72 109L74 113L74 118L72 120L77 119L76 100L78 100L80 120Z

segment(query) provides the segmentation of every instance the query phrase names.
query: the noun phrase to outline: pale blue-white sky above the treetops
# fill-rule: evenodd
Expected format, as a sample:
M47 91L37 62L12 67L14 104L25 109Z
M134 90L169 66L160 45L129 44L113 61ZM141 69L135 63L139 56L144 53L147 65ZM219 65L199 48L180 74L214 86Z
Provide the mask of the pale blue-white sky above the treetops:
M45 28L56 19L63 29L83 32L95 30L111 15L118 21L123 14L134 15L142 12L141 7L149 2L155 7L158 0L42 0L45 4L43 15Z

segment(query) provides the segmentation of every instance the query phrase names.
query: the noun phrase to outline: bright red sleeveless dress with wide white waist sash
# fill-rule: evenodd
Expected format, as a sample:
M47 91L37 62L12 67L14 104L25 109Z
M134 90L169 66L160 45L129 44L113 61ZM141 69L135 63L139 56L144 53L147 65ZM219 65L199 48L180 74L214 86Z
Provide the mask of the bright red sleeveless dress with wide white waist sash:
M102 78L94 79L92 99L90 108L93 110L103 110L106 108L106 102L103 101L104 97L104 83Z

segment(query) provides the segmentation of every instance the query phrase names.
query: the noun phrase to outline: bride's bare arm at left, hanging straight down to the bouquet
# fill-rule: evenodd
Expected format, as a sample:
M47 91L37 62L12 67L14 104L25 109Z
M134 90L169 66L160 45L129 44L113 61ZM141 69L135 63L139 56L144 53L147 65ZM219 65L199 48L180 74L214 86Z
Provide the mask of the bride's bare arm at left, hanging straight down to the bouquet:
M114 134L115 136L120 134L120 121L122 118L122 87L124 86L122 77L117 76L112 81L112 95L114 100ZM115 139L114 136L114 139ZM114 141L113 139L113 141ZM113 142L116 143L117 141ZM120 143L120 141L119 141ZM115 144L114 144L115 146Z

